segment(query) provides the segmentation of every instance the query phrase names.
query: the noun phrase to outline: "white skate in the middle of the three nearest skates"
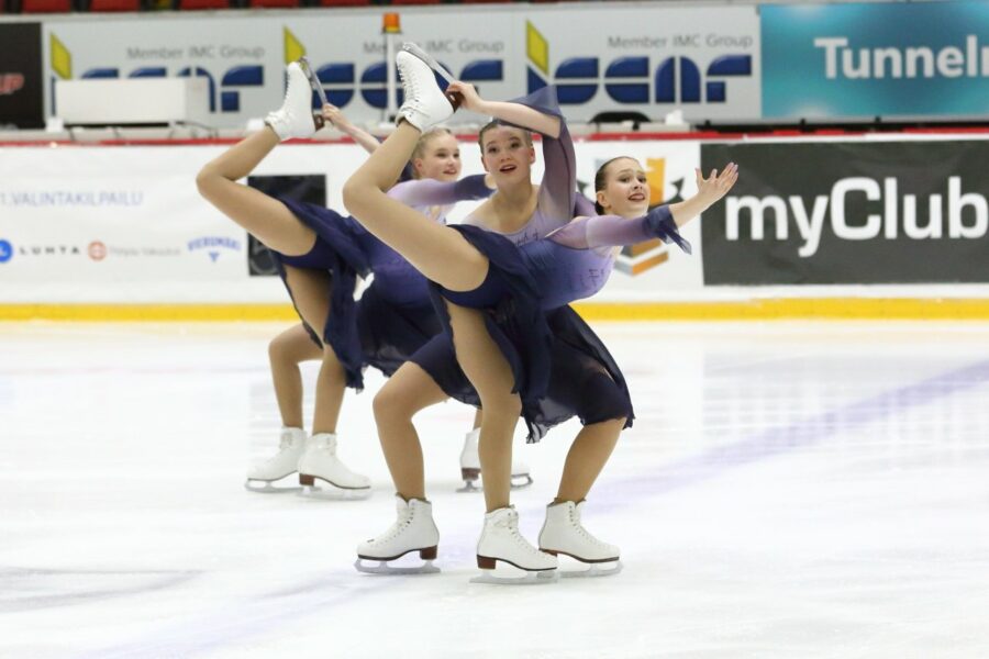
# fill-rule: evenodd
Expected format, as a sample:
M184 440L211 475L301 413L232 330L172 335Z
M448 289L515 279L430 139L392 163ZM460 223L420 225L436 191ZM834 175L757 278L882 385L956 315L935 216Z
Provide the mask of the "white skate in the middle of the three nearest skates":
M496 574L498 561L514 566L523 576ZM481 576L471 579L473 583L549 583L558 578L556 557L540 551L522 537L519 513L512 506L485 515L485 528L477 543L477 567L481 569Z

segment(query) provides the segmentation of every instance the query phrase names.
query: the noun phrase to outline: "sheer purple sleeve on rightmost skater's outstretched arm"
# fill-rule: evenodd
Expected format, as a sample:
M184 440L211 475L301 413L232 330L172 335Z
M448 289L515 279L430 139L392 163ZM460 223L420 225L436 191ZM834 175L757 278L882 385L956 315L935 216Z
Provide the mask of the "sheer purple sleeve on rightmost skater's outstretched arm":
M677 231L668 205L656 206L648 214L634 220L620 215L578 217L547 237L575 249L622 247L659 238L664 243L676 243L687 254L692 252L690 243Z

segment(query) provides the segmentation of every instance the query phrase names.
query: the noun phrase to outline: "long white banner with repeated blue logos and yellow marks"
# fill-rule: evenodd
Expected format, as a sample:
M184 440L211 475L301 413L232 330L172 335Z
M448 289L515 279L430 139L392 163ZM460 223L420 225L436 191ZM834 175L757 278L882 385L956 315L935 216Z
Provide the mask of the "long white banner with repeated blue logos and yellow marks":
M388 8L393 10L395 8ZM330 102L357 122L385 119L384 10L58 20L44 27L48 114L55 80L202 76L210 123L242 126L281 102L286 63L305 55ZM402 33L491 100L557 85L570 121L637 113L662 121L758 119L754 7L605 3L401 11ZM485 118L460 112L456 122Z

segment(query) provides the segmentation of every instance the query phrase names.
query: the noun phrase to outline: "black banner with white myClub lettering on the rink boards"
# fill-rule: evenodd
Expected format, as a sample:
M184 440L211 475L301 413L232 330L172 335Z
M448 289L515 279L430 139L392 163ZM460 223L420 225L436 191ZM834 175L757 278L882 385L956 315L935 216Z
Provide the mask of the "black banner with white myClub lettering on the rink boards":
M989 282L989 141L705 144L705 284Z

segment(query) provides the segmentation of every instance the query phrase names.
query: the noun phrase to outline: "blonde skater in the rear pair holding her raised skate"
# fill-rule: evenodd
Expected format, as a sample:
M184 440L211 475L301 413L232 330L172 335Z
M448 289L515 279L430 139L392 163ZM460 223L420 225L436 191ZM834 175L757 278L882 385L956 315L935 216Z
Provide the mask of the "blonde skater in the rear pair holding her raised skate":
M266 127L209 163L197 177L205 199L273 252L322 361L310 438L301 428L298 362L295 367L273 368L286 427L278 453L252 469L248 483L264 483L267 488L298 471L302 485L314 487L320 481L344 491L367 491L369 480L347 468L337 456L336 425L345 388L363 387L363 369L367 365L390 375L438 332L440 325L430 306L424 278L353 219L322 206L275 199L236 182L280 141L312 135L320 119L336 123L366 149L377 147L374 137L355 129L330 104L323 105L320 118L313 116L311 87L318 88L318 81L303 66L292 63L287 75L285 104L269 113ZM445 222L446 213L457 201L490 194L484 176L452 182L460 172L459 148L446 130L423 134L410 156L424 179L414 188L390 187L389 194L437 225ZM395 180L398 178L397 175ZM374 283L356 303L356 279L371 272ZM298 332L286 340L295 337ZM292 347L289 353L312 355L300 350Z

